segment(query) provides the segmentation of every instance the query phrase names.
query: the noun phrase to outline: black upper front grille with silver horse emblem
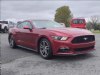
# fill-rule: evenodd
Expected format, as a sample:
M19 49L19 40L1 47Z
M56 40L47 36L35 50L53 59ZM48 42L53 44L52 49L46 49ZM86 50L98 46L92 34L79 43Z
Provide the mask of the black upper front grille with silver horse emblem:
M78 36L72 40L72 43L87 43L95 41L94 35L85 35L85 36Z

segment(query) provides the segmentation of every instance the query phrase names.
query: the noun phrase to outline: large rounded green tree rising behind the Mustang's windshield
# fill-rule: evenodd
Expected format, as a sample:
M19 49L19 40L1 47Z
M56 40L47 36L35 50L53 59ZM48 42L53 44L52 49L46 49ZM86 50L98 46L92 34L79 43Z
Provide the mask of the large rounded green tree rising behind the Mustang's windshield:
M70 19L73 17L68 6L62 6L56 10L55 21L59 23L64 23L69 26Z

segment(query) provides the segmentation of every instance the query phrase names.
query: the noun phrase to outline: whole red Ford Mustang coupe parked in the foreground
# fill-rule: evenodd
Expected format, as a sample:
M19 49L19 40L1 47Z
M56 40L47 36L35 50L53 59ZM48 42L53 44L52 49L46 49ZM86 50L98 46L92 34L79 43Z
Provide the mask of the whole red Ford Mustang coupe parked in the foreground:
M45 58L53 55L77 55L95 50L95 36L86 29L65 28L50 20L26 20L9 30L10 47L39 52Z

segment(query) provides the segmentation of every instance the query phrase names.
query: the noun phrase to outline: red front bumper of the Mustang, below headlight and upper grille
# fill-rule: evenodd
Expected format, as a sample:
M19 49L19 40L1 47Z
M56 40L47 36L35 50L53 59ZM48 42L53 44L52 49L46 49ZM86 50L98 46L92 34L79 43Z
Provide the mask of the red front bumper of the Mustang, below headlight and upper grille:
M88 43L73 44L66 41L54 41L53 43L54 55L78 55L86 54L95 50L95 41ZM65 52L59 51L60 48L68 48Z

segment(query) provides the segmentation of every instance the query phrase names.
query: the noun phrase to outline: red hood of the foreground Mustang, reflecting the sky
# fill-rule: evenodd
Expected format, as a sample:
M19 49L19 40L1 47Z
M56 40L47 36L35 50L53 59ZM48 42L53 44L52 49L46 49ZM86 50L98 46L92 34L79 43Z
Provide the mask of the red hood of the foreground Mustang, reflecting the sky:
M52 28L48 30L57 35L59 34L66 34L69 36L93 35L89 30L79 29L79 28Z

